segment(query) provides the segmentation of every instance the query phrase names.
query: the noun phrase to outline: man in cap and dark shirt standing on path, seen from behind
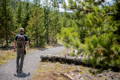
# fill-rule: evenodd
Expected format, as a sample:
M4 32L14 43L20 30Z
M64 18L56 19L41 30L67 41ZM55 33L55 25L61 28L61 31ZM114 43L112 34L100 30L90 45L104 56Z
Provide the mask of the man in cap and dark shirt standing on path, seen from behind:
M26 55L26 45L28 43L28 37L24 34L24 28L20 28L19 34L15 37L14 49L17 52L16 58L16 72L22 73L24 57Z

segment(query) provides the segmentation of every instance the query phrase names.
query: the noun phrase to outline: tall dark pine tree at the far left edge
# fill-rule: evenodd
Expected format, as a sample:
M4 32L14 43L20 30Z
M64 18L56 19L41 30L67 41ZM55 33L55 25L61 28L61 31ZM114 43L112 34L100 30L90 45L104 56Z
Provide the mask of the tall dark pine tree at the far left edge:
M0 9L1 9L0 35L2 35L0 37L5 39L5 46L8 46L12 27L14 28L13 17L12 17L13 13L10 6L10 0L2 0Z

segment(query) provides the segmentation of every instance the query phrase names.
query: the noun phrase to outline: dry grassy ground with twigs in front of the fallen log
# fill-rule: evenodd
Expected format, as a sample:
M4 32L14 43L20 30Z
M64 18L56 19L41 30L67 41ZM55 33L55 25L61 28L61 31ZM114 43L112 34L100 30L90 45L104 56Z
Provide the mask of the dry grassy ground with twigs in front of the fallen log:
M120 80L120 73L80 65L41 62L33 80Z

